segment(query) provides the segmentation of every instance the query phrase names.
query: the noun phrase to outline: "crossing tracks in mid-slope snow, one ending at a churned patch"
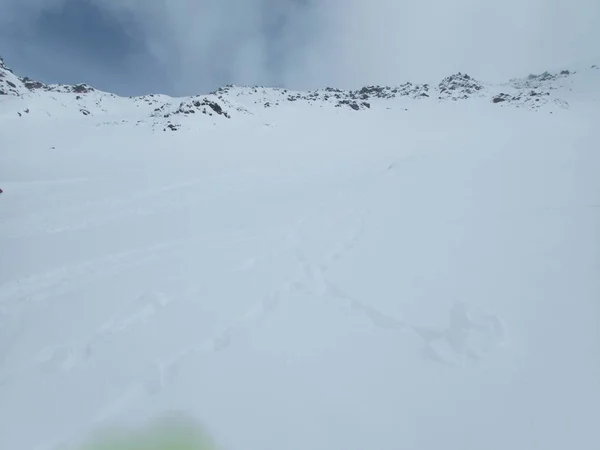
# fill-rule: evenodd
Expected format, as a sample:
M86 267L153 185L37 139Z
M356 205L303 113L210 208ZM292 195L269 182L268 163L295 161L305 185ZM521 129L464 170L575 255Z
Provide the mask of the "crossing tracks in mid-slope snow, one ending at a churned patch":
M363 195L356 203L365 202L366 198ZM331 205L322 204L320 207L330 209ZM314 215L315 211L302 217L296 227L288 233L286 245L278 252L294 256L298 266L297 274L294 277L283 282L279 288L253 304L213 336L200 343L182 348L172 354L170 358L154 361L148 377L144 381L130 386L120 397L110 403L93 420L93 423L102 423L145 396L156 395L166 389L169 383L176 380L178 367L187 358L200 358L214 352L226 351L235 342L237 335L242 331L251 330L256 322L276 310L282 302L287 301L288 295L293 292L313 295L324 301L335 302L345 308L350 308L368 319L375 327L398 331L400 339L405 333L414 333L422 342L421 353L435 363L450 366L461 366L469 362L476 363L503 345L506 328L502 319L464 302L457 302L449 311L449 323L446 328L433 328L396 319L346 294L328 280L327 271L336 261L348 256L360 241L366 227L368 211L356 207L343 215L346 218L354 218L353 229L345 233L338 242L332 243L331 247L325 251L325 256L317 263L311 263L302 252L305 244L302 228L306 223L310 223L311 217ZM251 270L256 263L257 259L251 258L244 263L243 269L238 267L233 270ZM158 297L156 301L149 303L152 306L147 305L137 314L121 319L119 322L111 322L100 334L127 329L136 320L154 315L160 307L164 307L168 302L168 299ZM96 336L96 338L99 337L99 335Z

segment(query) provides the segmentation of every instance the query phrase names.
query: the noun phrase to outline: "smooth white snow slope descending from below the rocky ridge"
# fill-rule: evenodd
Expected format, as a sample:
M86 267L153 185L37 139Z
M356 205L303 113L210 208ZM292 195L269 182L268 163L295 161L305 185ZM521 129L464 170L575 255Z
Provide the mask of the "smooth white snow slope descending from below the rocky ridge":
M460 80L1 96L0 449L597 449L600 70Z

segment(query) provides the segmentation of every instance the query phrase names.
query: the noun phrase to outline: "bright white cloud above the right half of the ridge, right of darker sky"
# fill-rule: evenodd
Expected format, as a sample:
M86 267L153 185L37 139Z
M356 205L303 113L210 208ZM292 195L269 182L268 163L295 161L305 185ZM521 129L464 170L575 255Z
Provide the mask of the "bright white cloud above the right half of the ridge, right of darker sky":
M597 0L329 0L293 82L503 80L600 56ZM303 70L302 70L303 69Z

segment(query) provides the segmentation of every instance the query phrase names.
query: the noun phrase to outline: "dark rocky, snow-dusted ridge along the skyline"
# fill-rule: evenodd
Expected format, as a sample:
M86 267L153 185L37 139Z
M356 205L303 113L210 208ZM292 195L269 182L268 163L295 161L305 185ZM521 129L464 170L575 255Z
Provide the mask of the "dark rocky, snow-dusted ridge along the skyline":
M530 110L542 108L569 109L571 100L568 92L578 84L577 77L594 80L600 87L599 65L589 65L580 70L563 69L557 72L530 74L525 78L513 78L502 84L488 84L462 72L445 77L437 84L405 82L397 86L367 85L356 90L326 87L312 91L295 91L265 86L227 85L208 94L185 97L170 97L163 94L148 94L121 97L98 90L88 84L75 85L45 84L28 77L20 77L6 66L0 57L0 103L2 98L16 97L12 108L4 113L19 117L40 109L37 104L28 105L34 98L58 102L62 109L72 110L77 115L102 116L117 114L114 103L130 102L136 111L136 123L150 120L163 130L175 131L182 125L175 117L195 114L231 119L237 113L255 114L258 109L277 108L283 104L305 103L320 107L347 108L355 111L372 107L406 107L393 100L418 101L464 101L479 99L498 107L512 106ZM25 103L25 107L23 107ZM56 106L56 105L55 105ZM15 108L16 107L16 108ZM53 116L55 107L46 104L45 113ZM0 113L2 111L0 110ZM141 114L140 114L141 113ZM128 122L129 120L122 119ZM118 122L118 121L117 121ZM114 122L113 122L114 123Z

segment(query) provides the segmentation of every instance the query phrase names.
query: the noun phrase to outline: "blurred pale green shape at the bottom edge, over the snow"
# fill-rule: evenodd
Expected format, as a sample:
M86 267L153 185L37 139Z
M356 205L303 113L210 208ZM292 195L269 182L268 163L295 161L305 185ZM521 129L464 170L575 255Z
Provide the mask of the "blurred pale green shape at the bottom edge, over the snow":
M73 450L219 450L219 447L197 423L169 417L142 429L104 430Z

